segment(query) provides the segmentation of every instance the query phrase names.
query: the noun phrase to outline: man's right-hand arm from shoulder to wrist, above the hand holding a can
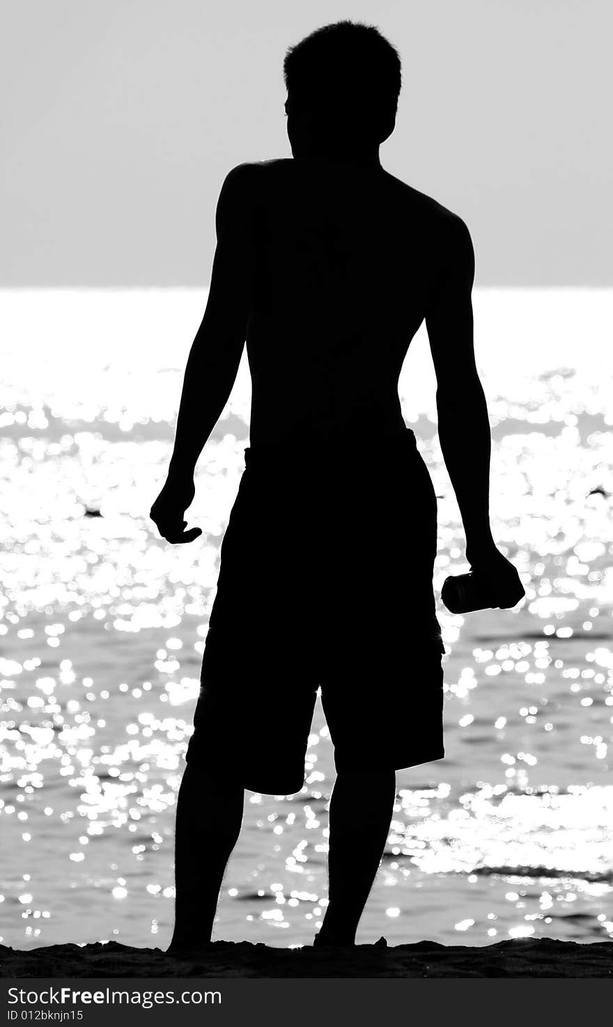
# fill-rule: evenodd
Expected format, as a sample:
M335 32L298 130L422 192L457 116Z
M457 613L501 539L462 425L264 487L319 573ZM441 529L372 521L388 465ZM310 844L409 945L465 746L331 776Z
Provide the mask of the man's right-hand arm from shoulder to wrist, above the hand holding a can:
M495 543L489 512L490 421L474 363L474 251L461 218L450 219L442 249L426 328L436 374L438 439L462 515L466 559L472 564L491 556Z

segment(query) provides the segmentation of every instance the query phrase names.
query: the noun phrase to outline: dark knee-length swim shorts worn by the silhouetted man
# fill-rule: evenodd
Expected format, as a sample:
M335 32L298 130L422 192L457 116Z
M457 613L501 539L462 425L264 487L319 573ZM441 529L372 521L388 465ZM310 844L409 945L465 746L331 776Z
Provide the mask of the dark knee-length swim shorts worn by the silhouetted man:
M290 795L317 687L337 771L444 757L436 497L414 433L245 449L187 762Z

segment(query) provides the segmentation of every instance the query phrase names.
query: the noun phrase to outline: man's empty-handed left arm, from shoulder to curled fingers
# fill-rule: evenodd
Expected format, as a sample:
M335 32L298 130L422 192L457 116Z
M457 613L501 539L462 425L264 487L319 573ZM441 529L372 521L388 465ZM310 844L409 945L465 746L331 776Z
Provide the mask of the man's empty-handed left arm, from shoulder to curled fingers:
M184 531L182 517L194 498L196 463L228 402L244 346L254 271L253 173L250 164L234 167L217 205L208 299L185 369L167 481L150 514L170 542L201 534L198 528Z

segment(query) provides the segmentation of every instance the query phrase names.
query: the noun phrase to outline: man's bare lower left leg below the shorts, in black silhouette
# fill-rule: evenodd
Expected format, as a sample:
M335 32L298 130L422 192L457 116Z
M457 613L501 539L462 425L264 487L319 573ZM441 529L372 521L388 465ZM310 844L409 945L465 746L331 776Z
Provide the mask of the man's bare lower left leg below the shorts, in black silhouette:
M210 941L220 888L242 823L244 789L188 763L177 800L175 933L168 951Z

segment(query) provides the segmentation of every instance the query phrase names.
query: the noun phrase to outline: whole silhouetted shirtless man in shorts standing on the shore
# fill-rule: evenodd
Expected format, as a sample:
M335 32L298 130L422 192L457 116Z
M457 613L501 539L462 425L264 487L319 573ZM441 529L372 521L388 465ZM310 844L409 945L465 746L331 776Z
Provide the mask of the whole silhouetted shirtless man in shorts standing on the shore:
M468 230L379 161L395 123L398 55L375 28L342 22L291 48L283 72L293 158L240 164L224 182L210 292L151 510L170 542L200 534L183 516L246 339L250 447L178 798L170 950L210 939L243 790L303 787L318 686L337 778L315 944L354 943L395 770L444 756L436 498L397 394L424 318L467 560L495 605L524 594L490 531Z

